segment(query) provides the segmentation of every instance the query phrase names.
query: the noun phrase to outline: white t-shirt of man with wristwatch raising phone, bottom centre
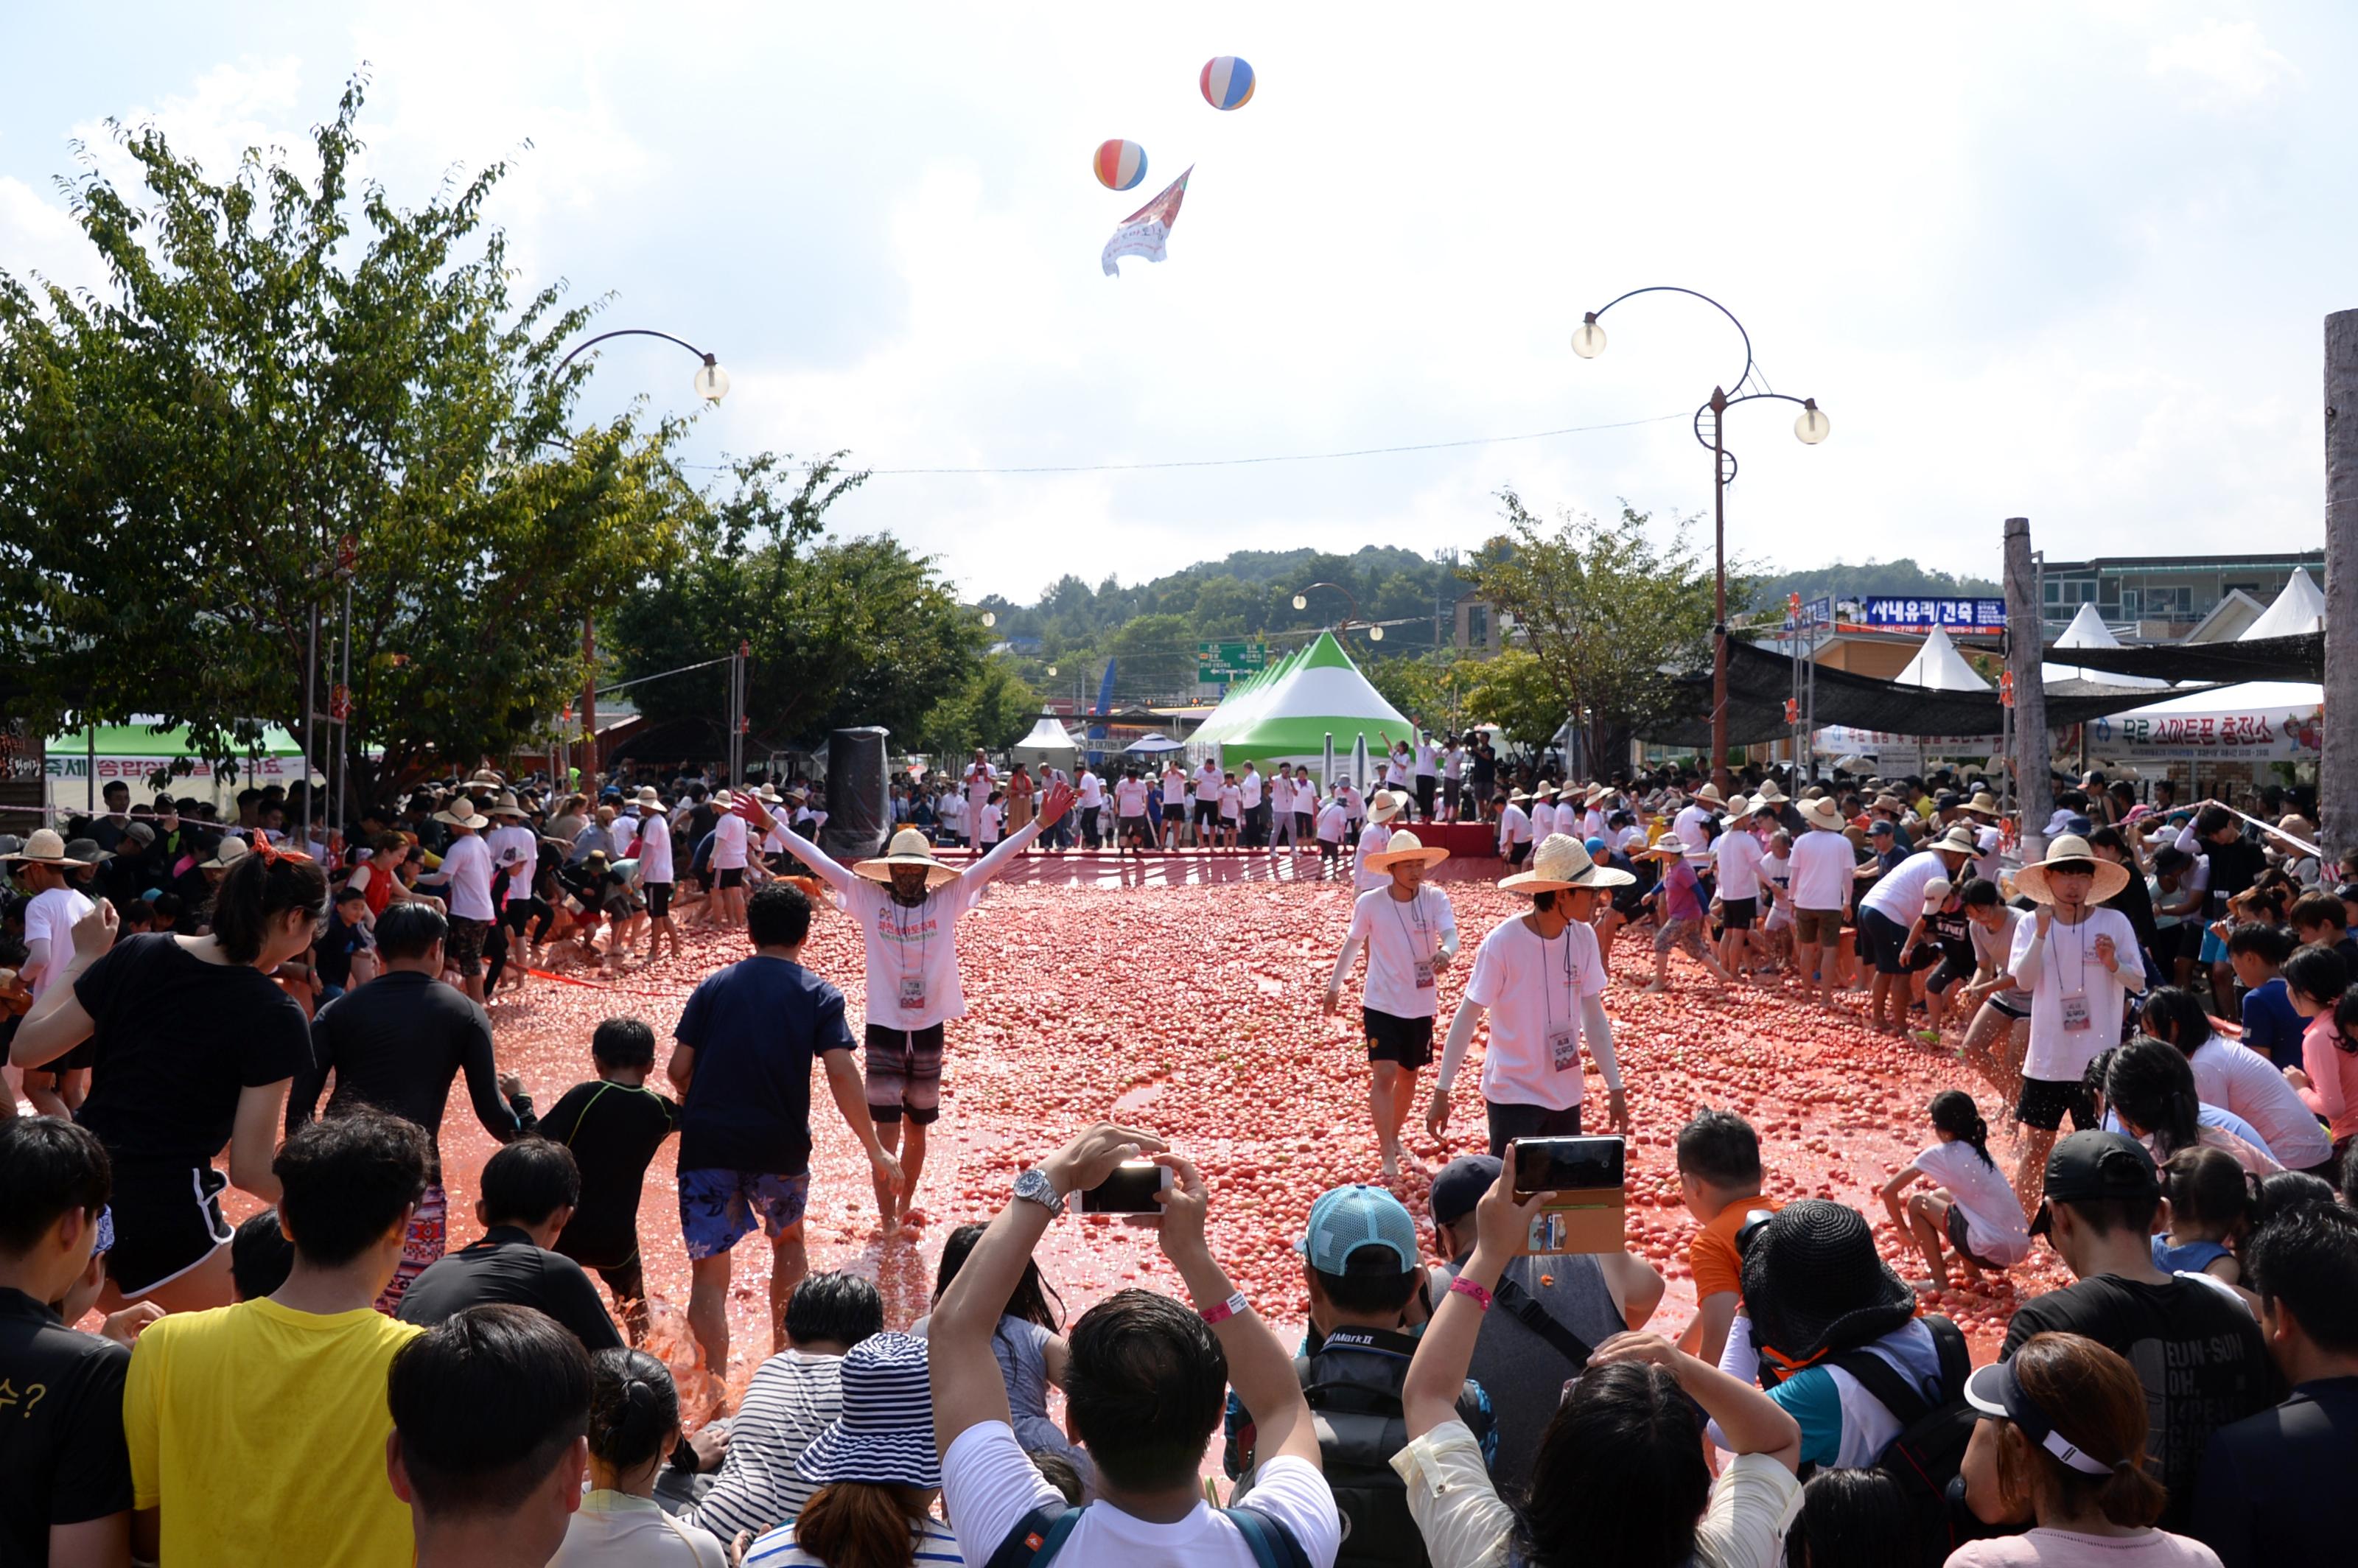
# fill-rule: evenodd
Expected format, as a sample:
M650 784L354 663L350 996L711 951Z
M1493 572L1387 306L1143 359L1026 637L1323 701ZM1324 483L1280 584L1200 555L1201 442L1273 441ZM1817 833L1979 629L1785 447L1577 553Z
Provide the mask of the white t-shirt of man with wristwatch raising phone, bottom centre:
M1245 1502L1285 1526L1311 1568L1335 1568L1342 1514L1316 1464L1290 1455L1264 1462ZM1033 1509L1061 1504L1063 1497L1040 1476L1007 1422L967 1427L941 1455L941 1509L957 1521L957 1549L969 1563L988 1563ZM1252 1551L1236 1526L1207 1502L1198 1502L1186 1518L1167 1526L1096 1502L1063 1540L1059 1561L1122 1568L1252 1568Z

